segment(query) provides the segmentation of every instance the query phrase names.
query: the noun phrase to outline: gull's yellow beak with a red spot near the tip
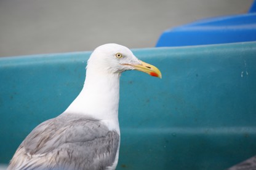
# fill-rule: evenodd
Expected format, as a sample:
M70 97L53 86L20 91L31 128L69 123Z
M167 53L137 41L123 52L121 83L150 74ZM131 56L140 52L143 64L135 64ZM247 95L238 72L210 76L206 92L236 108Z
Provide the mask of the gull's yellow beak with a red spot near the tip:
M153 66L151 64L145 63L141 60L140 60L140 63L142 63L142 64L131 65L131 66L134 67L134 69L137 71L146 72L147 74L150 74L151 76L159 77L160 79L162 79L161 71L159 71L158 68L156 68L155 66Z

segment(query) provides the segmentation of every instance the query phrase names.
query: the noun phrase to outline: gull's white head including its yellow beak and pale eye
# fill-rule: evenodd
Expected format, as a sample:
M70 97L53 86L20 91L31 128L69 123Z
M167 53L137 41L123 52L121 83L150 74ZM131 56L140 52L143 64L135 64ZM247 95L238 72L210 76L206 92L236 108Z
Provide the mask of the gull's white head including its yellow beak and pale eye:
M121 72L134 69L155 77L162 77L158 68L138 60L129 48L118 44L105 44L97 47L87 63L87 71L108 74L120 75Z

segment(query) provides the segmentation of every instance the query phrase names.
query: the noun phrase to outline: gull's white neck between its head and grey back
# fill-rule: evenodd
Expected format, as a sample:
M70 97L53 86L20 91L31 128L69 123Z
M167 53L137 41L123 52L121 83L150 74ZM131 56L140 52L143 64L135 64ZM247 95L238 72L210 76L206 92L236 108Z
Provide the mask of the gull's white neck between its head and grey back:
M84 87L63 114L83 114L103 122L118 122L120 74L87 69Z

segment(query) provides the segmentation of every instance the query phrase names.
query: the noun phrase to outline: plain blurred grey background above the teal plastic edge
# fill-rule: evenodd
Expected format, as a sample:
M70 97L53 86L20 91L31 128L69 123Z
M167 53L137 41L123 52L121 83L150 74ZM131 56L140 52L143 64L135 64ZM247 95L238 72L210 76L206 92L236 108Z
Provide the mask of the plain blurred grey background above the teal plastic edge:
M0 56L154 47L162 31L246 13L253 0L0 0Z

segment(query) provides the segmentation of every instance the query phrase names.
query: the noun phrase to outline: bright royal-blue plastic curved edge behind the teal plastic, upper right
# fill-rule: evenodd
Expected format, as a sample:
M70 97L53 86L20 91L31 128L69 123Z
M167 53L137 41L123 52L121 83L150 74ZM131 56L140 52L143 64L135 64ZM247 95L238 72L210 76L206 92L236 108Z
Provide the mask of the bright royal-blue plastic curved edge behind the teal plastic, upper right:
M247 41L256 41L256 13L209 18L169 29L159 37L156 47Z

